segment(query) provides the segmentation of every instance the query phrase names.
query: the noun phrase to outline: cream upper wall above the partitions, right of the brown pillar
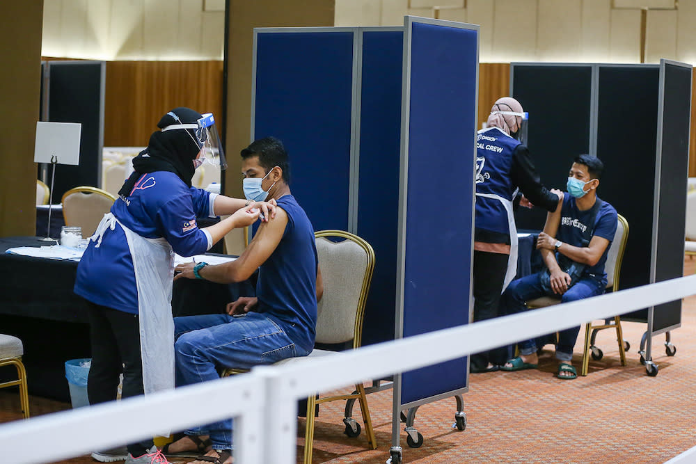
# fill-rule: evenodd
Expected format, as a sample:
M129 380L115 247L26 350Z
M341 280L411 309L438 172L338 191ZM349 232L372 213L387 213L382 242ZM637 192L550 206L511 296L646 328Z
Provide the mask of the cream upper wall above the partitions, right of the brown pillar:
M393 26L404 15L480 24L484 63L566 61L696 65L696 0L336 0L336 26Z

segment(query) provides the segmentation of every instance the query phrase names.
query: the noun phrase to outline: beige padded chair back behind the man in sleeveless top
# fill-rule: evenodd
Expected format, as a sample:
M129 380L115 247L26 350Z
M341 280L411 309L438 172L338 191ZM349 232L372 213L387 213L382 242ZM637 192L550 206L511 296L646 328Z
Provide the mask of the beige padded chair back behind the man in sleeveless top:
M318 343L337 344L353 340L361 345L365 301L374 270L370 243L349 232L315 232L324 295L317 316ZM333 241L334 239L344 239Z

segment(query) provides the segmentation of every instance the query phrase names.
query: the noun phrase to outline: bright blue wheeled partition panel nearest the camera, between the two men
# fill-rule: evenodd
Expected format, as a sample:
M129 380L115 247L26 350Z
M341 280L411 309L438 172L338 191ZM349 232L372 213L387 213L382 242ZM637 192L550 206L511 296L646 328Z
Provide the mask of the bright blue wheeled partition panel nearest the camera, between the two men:
M477 84L478 26L406 17L397 337L470 319ZM466 391L467 362L396 376L396 440L400 410Z

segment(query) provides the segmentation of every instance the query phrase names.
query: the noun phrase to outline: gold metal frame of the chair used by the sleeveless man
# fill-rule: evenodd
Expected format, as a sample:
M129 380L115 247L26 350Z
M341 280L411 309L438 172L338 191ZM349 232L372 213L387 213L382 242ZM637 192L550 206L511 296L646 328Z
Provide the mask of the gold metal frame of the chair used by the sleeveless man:
M358 244L367 255L367 266L365 266L365 277L363 278L363 288L361 289L361 294L358 298L358 308L356 311L355 325L354 325L354 338L353 338L353 349L360 348L363 341L363 319L365 317L365 303L367 302L367 294L370 291L370 282L372 282L372 273L374 271L374 250L370 243L361 239L355 234L350 232L345 232L343 230L320 230L314 233L315 239L322 237L340 237L342 239L351 240ZM242 374L248 372L246 369L225 369L223 371L223 377L232 374ZM363 422L365 423L365 435L367 436L367 442L372 449L377 449L377 439L374 436L374 429L372 428L372 419L370 418L370 409L367 407L367 396L365 394L365 387L362 383L355 384L355 392L351 394L341 394L332 397L317 398L318 395L312 395L307 398L307 423L305 426L305 447L304 447L304 463L312 463L313 454L313 443L314 443L314 426L315 426L315 408L317 404L328 403L329 401L339 401L339 400L349 400L357 399L360 403L360 410L363 415Z

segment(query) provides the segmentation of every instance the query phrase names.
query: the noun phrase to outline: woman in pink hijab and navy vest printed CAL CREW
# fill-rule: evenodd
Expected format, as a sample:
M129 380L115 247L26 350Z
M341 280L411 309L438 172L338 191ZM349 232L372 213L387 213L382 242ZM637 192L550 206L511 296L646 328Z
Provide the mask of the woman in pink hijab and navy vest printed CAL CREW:
M527 113L512 97L498 99L487 128L478 131L476 151L476 219L474 231L474 321L498 317L500 294L517 273L517 231L512 201L519 190L534 205L555 211L561 191L548 191L527 147ZM541 227L541 225L539 225ZM470 371L498 370L506 349L471 355Z

